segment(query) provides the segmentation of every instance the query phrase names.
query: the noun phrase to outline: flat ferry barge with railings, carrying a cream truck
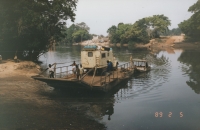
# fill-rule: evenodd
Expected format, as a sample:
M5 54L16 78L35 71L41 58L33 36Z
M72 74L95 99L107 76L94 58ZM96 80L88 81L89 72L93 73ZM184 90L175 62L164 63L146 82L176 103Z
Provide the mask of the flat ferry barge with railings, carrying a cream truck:
M112 62L113 70L106 71L107 61ZM133 73L133 62L129 61L118 65L111 48L87 45L81 51L81 64L85 73L77 79L73 74L71 65L56 67L54 65L54 78L44 75L32 76L36 80L46 82L52 87L83 88L108 92L118 84L127 81Z

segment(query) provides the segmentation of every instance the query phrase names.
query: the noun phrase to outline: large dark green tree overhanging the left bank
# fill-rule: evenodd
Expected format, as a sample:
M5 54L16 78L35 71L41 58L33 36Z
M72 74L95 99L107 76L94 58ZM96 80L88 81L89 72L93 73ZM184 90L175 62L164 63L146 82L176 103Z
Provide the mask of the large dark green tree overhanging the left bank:
M76 0L1 0L0 53L37 59L51 41L59 41L64 20L74 21Z

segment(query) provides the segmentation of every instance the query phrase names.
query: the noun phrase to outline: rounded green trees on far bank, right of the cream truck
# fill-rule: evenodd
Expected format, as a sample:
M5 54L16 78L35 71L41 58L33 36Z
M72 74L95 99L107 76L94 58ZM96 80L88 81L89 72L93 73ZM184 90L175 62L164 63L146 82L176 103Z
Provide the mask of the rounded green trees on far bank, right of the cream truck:
M147 43L151 38L157 38L165 33L170 25L170 20L164 15L154 15L136 21L134 24L119 23L110 27L107 32L111 43L135 42ZM131 41L131 42L130 42Z

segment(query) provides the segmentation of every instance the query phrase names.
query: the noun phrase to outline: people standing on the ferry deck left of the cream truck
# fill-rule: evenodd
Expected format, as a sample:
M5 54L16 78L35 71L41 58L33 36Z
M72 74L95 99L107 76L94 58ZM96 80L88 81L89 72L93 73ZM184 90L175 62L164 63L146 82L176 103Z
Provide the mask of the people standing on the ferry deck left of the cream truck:
M49 64L49 77L50 78L54 78L54 69L53 66L54 64ZM71 64L70 66L72 66L72 72L73 72L73 76L77 79L80 79L84 73L84 69L82 67L82 65L80 64L80 68L79 65L76 64L76 62L74 61L73 64Z

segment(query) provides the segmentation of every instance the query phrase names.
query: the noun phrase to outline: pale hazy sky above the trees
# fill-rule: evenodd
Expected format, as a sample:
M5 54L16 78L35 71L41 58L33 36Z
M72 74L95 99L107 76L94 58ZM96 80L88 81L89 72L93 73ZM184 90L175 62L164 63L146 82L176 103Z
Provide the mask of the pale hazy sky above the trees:
M171 20L172 28L188 19L188 8L197 0L79 0L75 23L85 22L91 34L107 35L107 29L118 23L135 21L158 14ZM68 26L71 22L67 22Z

